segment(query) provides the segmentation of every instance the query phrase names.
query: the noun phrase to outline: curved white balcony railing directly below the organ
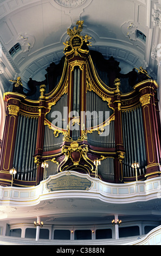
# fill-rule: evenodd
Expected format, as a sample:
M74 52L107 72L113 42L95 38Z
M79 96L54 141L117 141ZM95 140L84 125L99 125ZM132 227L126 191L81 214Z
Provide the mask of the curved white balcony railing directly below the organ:
M55 181L65 175L75 175L76 177L86 178L91 182L91 187L87 190L68 189L49 191L47 185L49 181ZM78 172L62 172L53 176L49 176L47 180L43 180L35 187L3 187L0 186L0 205L21 206L36 205L41 200L49 200L51 198L75 197L79 198L98 198L107 203L123 204L150 199L161 198L161 177L135 181L128 184L111 184L99 179L94 179L88 174Z

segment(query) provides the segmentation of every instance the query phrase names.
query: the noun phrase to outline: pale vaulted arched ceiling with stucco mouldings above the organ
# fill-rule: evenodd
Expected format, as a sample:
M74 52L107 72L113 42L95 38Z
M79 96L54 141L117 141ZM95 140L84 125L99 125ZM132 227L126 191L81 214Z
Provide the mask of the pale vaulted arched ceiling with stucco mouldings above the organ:
M160 0L0 0L1 81L17 75L24 86L30 77L44 80L47 66L63 56L67 28L78 20L84 20L82 35L92 36L91 50L113 56L123 74L142 65L156 79L151 52L159 44L160 28L153 14L160 7ZM137 38L137 29L146 43ZM17 42L21 50L11 57Z

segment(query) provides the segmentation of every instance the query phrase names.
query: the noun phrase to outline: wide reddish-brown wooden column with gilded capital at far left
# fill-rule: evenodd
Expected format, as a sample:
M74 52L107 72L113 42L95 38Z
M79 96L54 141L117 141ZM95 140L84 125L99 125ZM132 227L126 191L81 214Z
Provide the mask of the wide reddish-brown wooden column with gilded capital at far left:
M0 185L10 186L12 175L10 169L13 167L15 142L17 134L18 112L20 102L25 96L16 93L5 93L4 100L7 101L7 115L5 119L4 135L0 160Z

